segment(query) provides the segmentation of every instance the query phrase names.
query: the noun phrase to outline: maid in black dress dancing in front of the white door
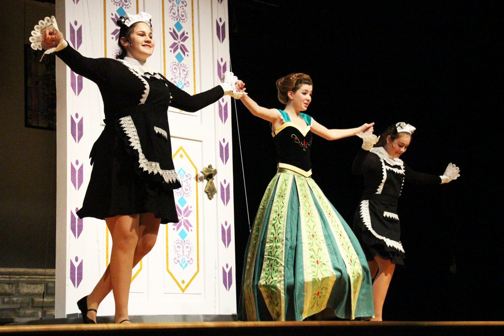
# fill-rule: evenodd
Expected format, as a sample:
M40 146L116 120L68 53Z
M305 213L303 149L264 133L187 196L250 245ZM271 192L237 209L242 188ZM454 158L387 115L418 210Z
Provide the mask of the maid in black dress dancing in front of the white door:
M111 290L114 322L130 323L132 268L154 246L159 225L178 222L173 189L180 182L171 159L168 106L195 112L225 94L236 98L236 88L243 90L243 83L227 73L221 85L187 94L146 64L155 45L151 16L128 14L117 24L119 59L82 56L65 41L53 17L35 26L30 38L32 47L55 51L75 73L95 82L103 98L106 125L91 150L91 179L77 214L104 219L113 245L102 278L77 302L84 323L96 323L98 306Z

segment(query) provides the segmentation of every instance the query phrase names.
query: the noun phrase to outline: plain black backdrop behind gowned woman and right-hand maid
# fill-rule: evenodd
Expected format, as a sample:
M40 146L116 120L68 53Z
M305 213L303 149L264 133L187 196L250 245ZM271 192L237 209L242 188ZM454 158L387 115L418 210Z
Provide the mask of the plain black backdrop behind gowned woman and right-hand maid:
M449 162L461 168L449 184L403 188L406 266L396 268L386 320L502 319L496 4L229 0L232 71L261 106L283 108L275 81L303 72L314 83L307 113L318 122L350 128L374 121L381 133L405 121L417 127L401 157L411 168L436 175ZM239 101L233 110L239 288L247 206L251 224L276 173L276 155L268 122ZM315 137L311 149L313 178L349 224L362 191L361 177L350 171L360 145L357 137Z

